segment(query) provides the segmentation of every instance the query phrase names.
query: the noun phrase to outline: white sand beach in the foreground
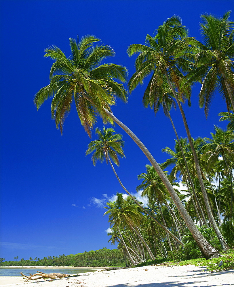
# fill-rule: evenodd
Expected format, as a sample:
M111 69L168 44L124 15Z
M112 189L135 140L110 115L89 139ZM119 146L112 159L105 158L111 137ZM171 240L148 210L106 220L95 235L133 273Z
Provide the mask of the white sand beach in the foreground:
M147 271L145 270L147 269ZM234 286L234 270L205 273L205 267L144 266L111 271L81 273L77 277L24 282L22 277L0 277L0 286L27 287L206 287Z

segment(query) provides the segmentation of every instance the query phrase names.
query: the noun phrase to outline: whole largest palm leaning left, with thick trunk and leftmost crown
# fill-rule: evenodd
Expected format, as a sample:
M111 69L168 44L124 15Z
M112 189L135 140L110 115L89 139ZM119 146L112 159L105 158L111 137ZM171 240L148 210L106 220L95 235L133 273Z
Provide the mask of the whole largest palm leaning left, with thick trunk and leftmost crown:
M76 99L77 113L81 124L89 135L91 135L96 115L100 115L104 122L114 121L117 123L139 146L159 174L178 210L180 210L180 214L197 242L201 253L206 258L218 256L218 250L214 249L199 232L170 181L149 150L111 112L110 106L115 103L115 96L126 101L126 90L114 79L124 82L127 72L126 68L121 65L103 64L98 66L105 57L114 55L114 50L110 46L94 46L94 43L98 41L99 39L94 36L81 38L79 43L71 39L72 56L70 58L66 58L64 53L56 46L46 49L45 57L51 57L55 62L50 72L50 84L35 95L34 102L37 109L45 100L54 96L51 109L52 117L55 118L56 125L57 127L60 126L61 131L65 116L70 112L72 98Z

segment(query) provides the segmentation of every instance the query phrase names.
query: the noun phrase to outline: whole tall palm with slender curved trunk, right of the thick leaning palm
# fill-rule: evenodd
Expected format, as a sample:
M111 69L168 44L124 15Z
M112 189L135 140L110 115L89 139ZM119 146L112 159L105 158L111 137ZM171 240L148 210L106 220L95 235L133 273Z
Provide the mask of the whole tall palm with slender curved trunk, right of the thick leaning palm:
M225 242L222 234L220 233L220 230L218 229L218 226L212 215L212 210L210 208L208 196L206 194L206 189L203 183L201 168L199 166L196 150L193 146L190 130L180 102L184 102L183 96L190 97L191 93L191 85L184 85L183 90L180 90L179 81L184 76L180 70L187 73L192 71L192 68L194 67L194 63L189 61L190 59L193 59L193 55L184 52L184 49L187 49L191 41L194 40L187 38L187 34L187 28L182 25L181 19L178 16L173 16L167 21L163 22L162 26L159 26L157 34L154 38L147 35L146 41L150 47L141 44L130 45L128 47L128 54L132 56L135 53L140 53L140 55L138 55L135 61L136 73L134 73L134 75L130 78L129 87L131 92L136 88L138 84L143 83L143 79L145 77L147 77L150 73L153 73L153 76L151 77L146 90L149 91L150 94L153 94L155 87L161 86L163 83L163 77L166 77L182 115L189 144L193 152L196 171L202 188L202 194L204 197L206 209L208 211L209 220L212 223L222 249L227 250L229 247ZM180 99L174 87L180 91Z

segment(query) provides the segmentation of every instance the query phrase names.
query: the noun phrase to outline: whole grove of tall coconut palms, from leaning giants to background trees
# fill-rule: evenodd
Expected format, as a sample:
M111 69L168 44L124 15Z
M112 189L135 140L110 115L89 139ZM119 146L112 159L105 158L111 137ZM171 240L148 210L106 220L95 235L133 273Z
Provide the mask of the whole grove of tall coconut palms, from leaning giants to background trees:
M117 82L126 82L127 69L117 64L100 64L114 55L110 46L95 45L100 40L87 35L80 42L70 39L69 58L56 46L46 49L45 57L55 62L50 84L35 95L36 107L53 96L51 113L62 133L64 119L75 101L81 124L90 137L96 116L104 124L115 122L151 163L142 167L138 175L137 190L148 199L148 205L142 206L124 187L113 166L119 165L119 156L124 156L121 134L112 128L96 128L98 138L91 141L86 151L92 153L94 165L98 160L111 165L128 194L125 197L118 193L116 201L107 203L105 214L111 225L111 242L118 244L131 265L162 257L185 259L202 255L208 259L234 247L234 25L230 14L228 11L221 18L201 15L203 43L188 37L187 27L178 16L173 16L158 27L156 36L147 34L146 44L128 47L129 56L137 54L129 91L149 77L143 104L155 113L163 108L175 131L175 146L163 149L168 160L162 164L111 112L116 97L126 102L128 92ZM199 105L204 107L206 116L216 92L227 104L227 111L220 111L220 120L230 123L227 129L215 126L210 138L191 136L183 110L182 104L190 104L195 83L201 83ZM187 138L180 138L171 118L170 110L176 106ZM183 192L176 189L180 179Z

